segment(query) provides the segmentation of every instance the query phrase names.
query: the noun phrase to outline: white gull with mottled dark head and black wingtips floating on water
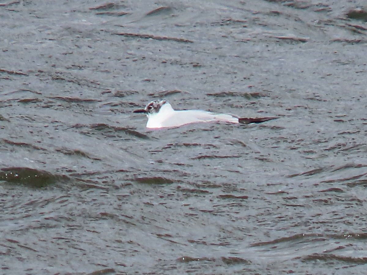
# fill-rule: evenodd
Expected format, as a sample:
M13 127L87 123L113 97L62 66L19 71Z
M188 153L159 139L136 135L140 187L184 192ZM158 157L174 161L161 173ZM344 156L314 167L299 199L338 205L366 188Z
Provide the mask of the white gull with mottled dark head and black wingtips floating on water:
M134 113L146 113L146 128L176 128L182 125L199 122L260 123L278 117L239 118L230 114L216 114L204 110L174 110L166 100L153 100L144 109Z

